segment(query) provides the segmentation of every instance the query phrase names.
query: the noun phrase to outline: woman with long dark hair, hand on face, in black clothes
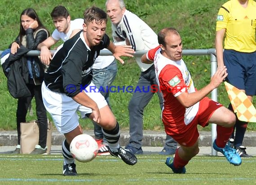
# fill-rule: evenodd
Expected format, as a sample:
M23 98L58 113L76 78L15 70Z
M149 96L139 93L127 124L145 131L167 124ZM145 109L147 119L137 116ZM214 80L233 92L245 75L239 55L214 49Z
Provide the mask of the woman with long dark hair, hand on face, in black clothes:
M44 27L34 9L28 8L22 11L20 16L20 31L15 41L11 44L11 53L19 52L21 46L36 50L38 44L49 37L49 31ZM16 112L18 145L13 153L20 153L20 123L26 122L26 113L31 100L35 97L36 116L39 124L39 142L35 145L35 150L31 154L45 154L47 151L47 127L48 120L46 110L42 100L41 84L44 79L44 65L39 57L26 56L28 75L25 79L26 86L31 95L18 98L18 107Z

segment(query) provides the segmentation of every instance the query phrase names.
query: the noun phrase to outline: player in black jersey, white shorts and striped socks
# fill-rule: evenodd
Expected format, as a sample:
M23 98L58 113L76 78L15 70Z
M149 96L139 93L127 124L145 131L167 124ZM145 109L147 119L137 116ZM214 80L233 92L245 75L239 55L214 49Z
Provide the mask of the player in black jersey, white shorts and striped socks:
M121 158L124 163L134 165L137 158L128 150L119 146L119 124L100 92L94 92L92 83L92 66L95 58L103 48L109 49L121 63L120 56L132 57L134 50L129 46L115 46L106 32L107 15L97 7L84 12L83 30L67 40L54 54L45 73L42 85L43 101L51 114L56 128L65 136L62 144L64 156L63 175L78 175L75 159L69 146L74 137L82 134L79 126L80 112L82 118L87 116L101 127L106 137L110 154Z

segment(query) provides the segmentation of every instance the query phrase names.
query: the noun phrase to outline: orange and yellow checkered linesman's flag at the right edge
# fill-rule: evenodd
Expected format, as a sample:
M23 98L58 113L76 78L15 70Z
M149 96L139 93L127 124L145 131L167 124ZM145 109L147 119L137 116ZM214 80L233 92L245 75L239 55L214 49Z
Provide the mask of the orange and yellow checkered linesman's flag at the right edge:
M233 85L224 82L230 103L240 121L256 123L256 109L247 95Z

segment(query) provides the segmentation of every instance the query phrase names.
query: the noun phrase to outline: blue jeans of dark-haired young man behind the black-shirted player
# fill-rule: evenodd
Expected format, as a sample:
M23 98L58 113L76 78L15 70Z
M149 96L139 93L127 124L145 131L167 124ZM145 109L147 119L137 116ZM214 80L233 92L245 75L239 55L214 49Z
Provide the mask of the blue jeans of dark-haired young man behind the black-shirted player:
M109 66L103 69L93 69L93 84L97 88L102 87L104 89L104 91L101 91L101 93L105 97L108 105L110 105L109 92L106 93L106 86L110 86L113 83L116 73L117 73L117 63L115 60ZM99 126L96 122L93 122L93 124L94 124L95 139L102 139L103 138L102 127Z

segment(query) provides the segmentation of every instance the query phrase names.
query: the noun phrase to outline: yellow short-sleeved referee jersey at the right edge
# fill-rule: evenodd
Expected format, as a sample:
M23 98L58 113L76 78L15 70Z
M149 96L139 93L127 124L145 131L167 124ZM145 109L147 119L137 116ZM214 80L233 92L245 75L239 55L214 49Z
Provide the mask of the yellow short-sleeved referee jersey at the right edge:
M226 29L225 49L252 53L256 51L256 2L249 0L247 8L238 0L222 5L216 18L216 31Z

